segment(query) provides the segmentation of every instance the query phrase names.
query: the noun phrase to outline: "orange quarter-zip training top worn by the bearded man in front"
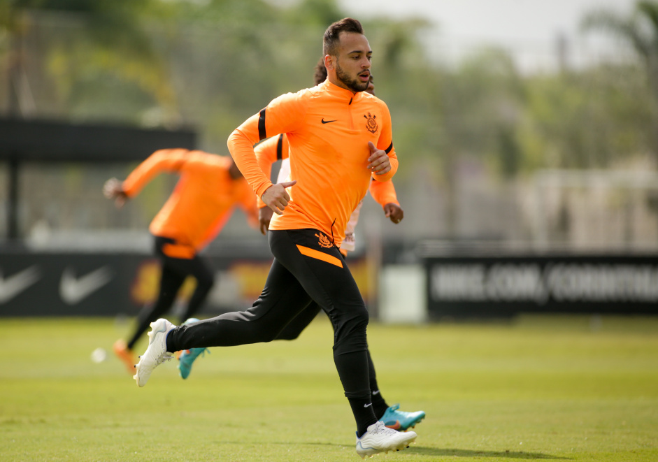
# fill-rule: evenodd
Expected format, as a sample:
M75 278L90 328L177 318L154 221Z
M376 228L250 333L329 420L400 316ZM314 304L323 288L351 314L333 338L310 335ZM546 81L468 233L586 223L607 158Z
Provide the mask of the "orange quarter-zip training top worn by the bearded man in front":
M354 94L325 80L316 87L279 96L229 136L236 164L257 196L272 185L254 145L286 133L289 143L291 201L274 215L270 229L319 229L341 246L345 226L365 196L371 177L390 180L398 161L393 148L391 116L386 104L366 92ZM385 175L371 175L371 141L391 162Z

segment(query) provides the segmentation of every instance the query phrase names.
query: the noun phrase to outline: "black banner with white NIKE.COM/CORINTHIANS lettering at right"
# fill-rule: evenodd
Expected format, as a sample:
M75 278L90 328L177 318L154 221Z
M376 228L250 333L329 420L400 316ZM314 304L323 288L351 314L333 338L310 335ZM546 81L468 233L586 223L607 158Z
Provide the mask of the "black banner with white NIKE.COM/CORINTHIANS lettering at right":
M431 319L658 314L658 256L428 257Z

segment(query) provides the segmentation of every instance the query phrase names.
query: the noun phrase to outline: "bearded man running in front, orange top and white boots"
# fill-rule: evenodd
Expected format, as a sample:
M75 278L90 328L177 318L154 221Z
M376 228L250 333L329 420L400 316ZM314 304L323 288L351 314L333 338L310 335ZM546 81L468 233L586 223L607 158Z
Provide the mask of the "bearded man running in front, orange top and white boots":
M274 340L315 302L334 327L334 363L355 417L357 454L365 457L404 449L417 435L387 428L373 411L368 311L338 249L371 178L390 180L398 160L389 110L364 92L372 51L361 24L352 18L331 24L322 55L325 82L279 96L229 136L236 164L276 214L268 233L274 260L262 294L246 311L194 324L177 327L158 319L134 377L143 387L155 367L171 359L170 352ZM289 142L292 180L273 185L253 146L279 133Z

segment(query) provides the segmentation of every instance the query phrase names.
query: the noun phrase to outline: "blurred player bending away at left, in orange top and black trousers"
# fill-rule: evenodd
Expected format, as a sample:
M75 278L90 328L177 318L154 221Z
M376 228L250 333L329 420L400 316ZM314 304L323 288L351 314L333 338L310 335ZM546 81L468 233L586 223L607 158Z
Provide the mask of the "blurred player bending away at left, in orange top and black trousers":
M185 149L156 151L126 180L110 178L103 194L121 208L163 172L178 173L180 179L149 226L155 238L155 254L162 261L157 300L141 310L129 340L117 340L113 347L131 374L136 372L133 353L136 342L151 322L171 309L187 276L196 279L196 287L180 319L191 318L206 300L214 284L214 274L210 262L201 258L199 252L221 231L235 206L240 206L250 224L257 226L253 190L233 159L217 154Z

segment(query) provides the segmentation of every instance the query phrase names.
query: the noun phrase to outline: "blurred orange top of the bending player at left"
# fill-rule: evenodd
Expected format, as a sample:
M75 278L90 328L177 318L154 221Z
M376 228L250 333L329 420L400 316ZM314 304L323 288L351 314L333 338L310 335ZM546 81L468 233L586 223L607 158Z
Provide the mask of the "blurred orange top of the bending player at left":
M136 196L162 172L178 173L180 180L149 226L155 236L172 238L169 257L192 258L221 231L235 205L257 226L256 196L244 178L231 178L228 157L202 151L169 149L154 152L123 182L124 192Z

